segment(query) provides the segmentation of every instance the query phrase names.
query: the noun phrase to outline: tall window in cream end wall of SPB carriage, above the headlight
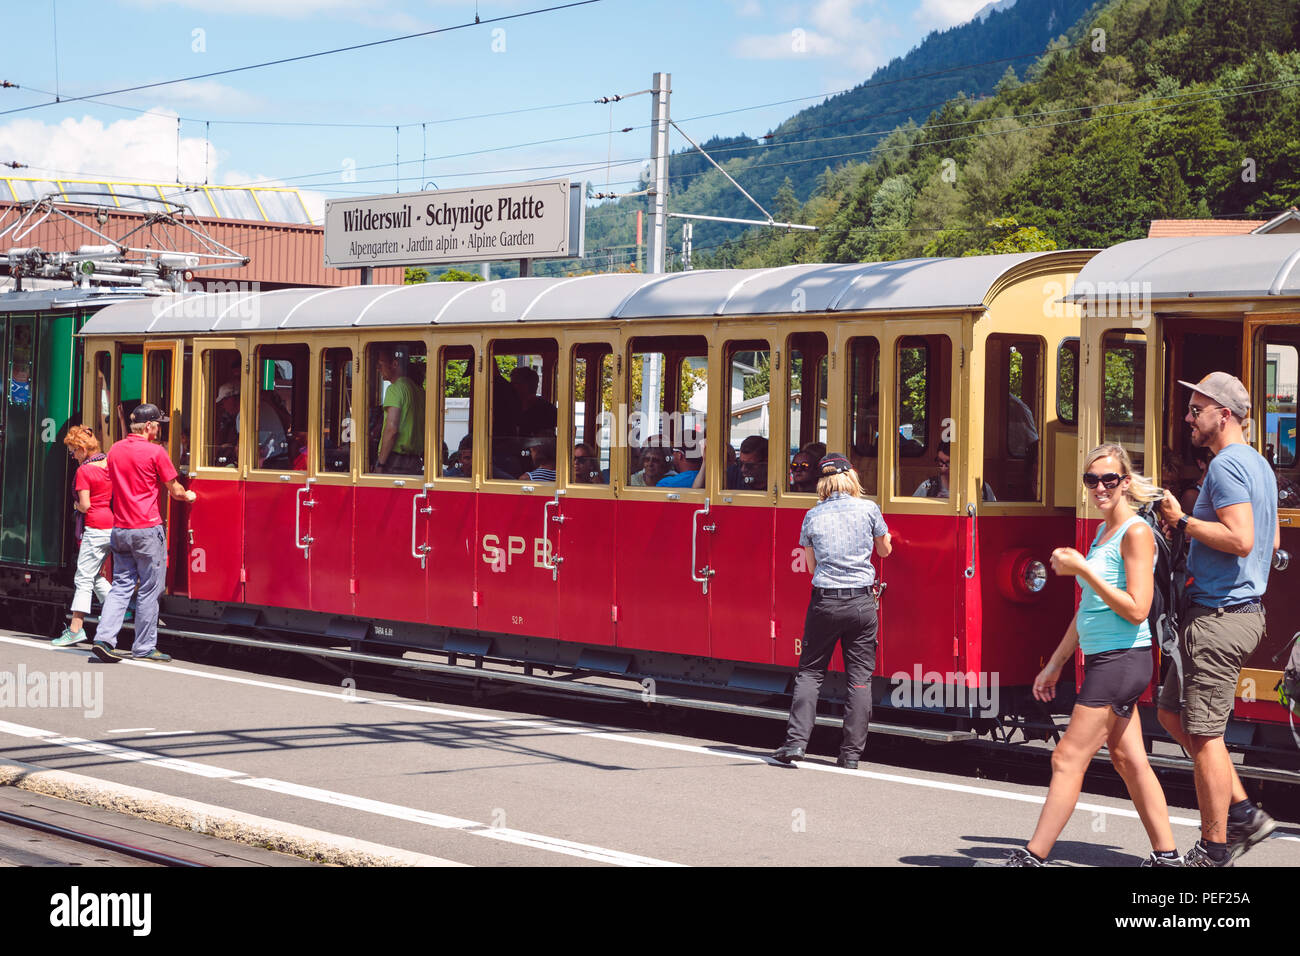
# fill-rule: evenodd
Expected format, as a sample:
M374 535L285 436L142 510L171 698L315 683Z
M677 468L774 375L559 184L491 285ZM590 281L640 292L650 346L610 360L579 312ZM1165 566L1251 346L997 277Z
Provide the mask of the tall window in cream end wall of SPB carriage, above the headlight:
M1041 338L993 334L984 350L985 485L998 501L1037 501L1041 486Z

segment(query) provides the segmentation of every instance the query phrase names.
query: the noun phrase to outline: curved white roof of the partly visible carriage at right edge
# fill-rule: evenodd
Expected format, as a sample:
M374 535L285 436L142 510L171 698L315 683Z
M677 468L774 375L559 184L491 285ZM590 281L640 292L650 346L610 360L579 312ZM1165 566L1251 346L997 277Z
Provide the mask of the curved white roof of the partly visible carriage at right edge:
M1083 267L1067 302L1124 290L1145 299L1300 295L1300 233L1135 239Z

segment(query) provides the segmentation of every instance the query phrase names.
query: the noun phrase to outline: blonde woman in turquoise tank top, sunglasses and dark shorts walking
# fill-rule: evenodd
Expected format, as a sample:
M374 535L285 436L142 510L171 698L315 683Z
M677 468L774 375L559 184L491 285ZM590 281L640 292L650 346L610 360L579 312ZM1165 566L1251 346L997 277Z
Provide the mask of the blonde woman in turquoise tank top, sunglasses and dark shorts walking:
M1164 492L1132 472L1128 453L1100 445L1088 453L1083 483L1102 523L1088 555L1072 548L1052 553L1052 570L1079 580L1079 610L1052 659L1034 680L1034 696L1050 701L1061 670L1083 650L1083 685L1070 726L1052 752L1052 784L1034 836L1013 849L1006 866L1041 866L1065 829L1083 790L1083 774L1105 744L1110 761L1138 808L1152 853L1143 866L1180 866L1169 825L1169 805L1147 750L1134 705L1150 684L1152 649L1147 615L1154 587L1156 541L1134 505Z

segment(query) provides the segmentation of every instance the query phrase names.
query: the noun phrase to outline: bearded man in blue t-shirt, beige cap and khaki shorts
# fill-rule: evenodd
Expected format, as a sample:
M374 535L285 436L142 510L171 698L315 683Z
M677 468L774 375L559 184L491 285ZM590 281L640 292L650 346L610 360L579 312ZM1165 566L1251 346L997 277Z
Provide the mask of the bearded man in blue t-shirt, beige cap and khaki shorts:
M1264 639L1262 597L1280 544L1273 468L1245 442L1251 394L1239 378L1212 372L1192 389L1192 445L1214 453L1191 515L1169 492L1161 515L1191 538L1179 666L1160 693L1160 722L1196 763L1201 839L1187 866L1228 866L1273 832L1269 814L1245 795L1223 744L1242 665ZM1176 662L1175 662L1176 663ZM1182 670L1182 672L1179 672Z

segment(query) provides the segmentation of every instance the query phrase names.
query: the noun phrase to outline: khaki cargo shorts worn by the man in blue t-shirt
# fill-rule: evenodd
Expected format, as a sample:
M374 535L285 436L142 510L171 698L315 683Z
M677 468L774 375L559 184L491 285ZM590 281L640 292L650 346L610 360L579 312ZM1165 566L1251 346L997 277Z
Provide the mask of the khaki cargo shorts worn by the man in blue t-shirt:
M1170 667L1158 706L1182 711L1183 730L1205 737L1223 736L1236 700L1242 665L1264 639L1264 611L1226 614L1219 607L1191 605L1179 635L1183 675Z

